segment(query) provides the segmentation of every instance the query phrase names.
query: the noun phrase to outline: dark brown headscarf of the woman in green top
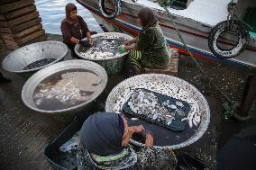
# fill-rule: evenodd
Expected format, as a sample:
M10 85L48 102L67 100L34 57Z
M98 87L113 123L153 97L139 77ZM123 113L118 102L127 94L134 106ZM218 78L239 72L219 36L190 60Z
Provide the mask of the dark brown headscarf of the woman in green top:
M138 17L142 21L143 29L147 29L157 22L157 17L155 16L154 12L147 7L144 7L139 11Z

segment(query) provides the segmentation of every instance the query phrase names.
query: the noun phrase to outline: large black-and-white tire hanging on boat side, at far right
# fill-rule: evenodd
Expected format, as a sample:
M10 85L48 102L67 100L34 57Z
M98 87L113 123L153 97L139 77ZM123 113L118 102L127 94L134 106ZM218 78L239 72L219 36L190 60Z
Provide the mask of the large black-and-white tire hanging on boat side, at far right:
M230 25L232 25L232 30L238 34L239 39L232 49L222 49L218 46L217 40L223 32L231 31ZM250 34L247 26L238 20L228 20L219 22L212 29L208 37L208 46L212 53L218 58L234 58L239 56L244 51L249 41Z

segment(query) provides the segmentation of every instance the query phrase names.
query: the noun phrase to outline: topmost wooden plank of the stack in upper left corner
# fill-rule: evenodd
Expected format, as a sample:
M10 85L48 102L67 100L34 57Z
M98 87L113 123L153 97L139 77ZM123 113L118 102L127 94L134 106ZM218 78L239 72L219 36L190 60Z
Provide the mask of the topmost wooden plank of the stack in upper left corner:
M24 6L28 6L30 4L34 4L34 0L22 0L22 1L17 1L14 3L9 3L9 4L1 4L0 5L0 12L1 13L7 13L10 11L14 11L16 9L20 9Z

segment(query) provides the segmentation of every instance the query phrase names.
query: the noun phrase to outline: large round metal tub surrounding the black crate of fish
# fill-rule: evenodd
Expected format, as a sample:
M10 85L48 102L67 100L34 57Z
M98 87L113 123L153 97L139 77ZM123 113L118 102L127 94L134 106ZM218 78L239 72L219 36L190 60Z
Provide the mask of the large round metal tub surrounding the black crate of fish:
M121 82L120 84L116 85L111 93L108 95L105 103L105 111L122 112L123 103L125 103L129 99L135 88L145 88L160 94L168 95L178 100L187 101L187 103L191 105L191 108L193 108L189 112L196 111L195 109L197 109L198 112L200 112L201 114L200 124L195 128L195 130L193 130L193 133L191 133L191 135L187 136L187 138L184 138L183 140L177 140L177 143L175 144L169 145L168 143L161 146L156 145L155 148L184 148L196 142L206 132L208 124L210 122L210 109L208 103L206 102L206 98L197 90L196 87L175 76L168 76L162 74L145 74L130 77ZM179 92L182 92L182 94L180 94ZM186 93L184 94L183 92ZM166 131L167 134L173 133L171 130ZM131 139L131 142L139 147L142 147L144 145L134 139Z

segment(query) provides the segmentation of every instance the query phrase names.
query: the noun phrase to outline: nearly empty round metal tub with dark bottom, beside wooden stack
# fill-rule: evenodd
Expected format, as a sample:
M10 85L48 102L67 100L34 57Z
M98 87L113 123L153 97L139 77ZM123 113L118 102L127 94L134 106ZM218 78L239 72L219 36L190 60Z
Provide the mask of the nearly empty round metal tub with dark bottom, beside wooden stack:
M32 76L35 71L59 62L67 54L68 47L64 43L53 40L41 41L14 50L4 59L2 66L6 71L19 73L22 76ZM33 62L44 58L53 58L56 60L41 67L23 69Z

